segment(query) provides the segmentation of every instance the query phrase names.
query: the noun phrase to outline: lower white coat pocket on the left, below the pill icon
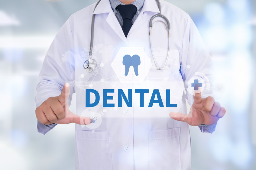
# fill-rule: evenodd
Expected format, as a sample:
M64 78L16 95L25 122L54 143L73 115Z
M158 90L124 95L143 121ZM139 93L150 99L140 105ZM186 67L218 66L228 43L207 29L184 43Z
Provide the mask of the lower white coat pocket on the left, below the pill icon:
M111 170L109 131L76 130L79 169Z

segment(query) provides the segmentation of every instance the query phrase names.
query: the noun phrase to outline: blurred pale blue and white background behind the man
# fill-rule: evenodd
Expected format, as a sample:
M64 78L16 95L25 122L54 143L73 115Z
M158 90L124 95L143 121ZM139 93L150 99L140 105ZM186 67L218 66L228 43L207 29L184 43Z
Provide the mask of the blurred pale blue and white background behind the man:
M213 134L190 127L192 170L256 169L256 1L167 0L192 17L226 108ZM56 33L96 0L0 0L0 169L74 169L73 124L37 133L35 87ZM75 95L75 94L74 94ZM70 110L75 112L75 97Z

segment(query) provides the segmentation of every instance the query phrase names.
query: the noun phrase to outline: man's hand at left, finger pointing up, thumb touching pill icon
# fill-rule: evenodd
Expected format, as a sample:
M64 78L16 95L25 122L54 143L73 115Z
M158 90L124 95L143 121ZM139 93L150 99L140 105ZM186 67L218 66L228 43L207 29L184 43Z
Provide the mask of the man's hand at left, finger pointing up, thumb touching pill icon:
M49 97L36 108L37 120L44 125L50 125L53 123L76 123L79 125L90 124L89 117L78 116L69 110L69 106L67 104L69 94L70 86L66 83L59 96Z

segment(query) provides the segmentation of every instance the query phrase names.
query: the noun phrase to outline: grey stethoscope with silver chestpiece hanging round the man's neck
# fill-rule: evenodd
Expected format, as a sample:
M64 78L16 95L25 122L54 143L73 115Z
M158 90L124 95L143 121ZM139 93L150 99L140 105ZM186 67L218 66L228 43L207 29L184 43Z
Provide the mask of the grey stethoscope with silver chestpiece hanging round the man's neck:
M95 8L94 8L94 11L95 11L95 9L96 9L96 7L98 6L98 4L99 4L100 1L101 1L101 0L99 0L99 1L96 3ZM168 58L169 58L169 51L170 51L170 22L169 22L169 20L168 20L164 15L161 14L160 2L159 2L159 0L156 0L156 1L157 1L157 3L158 3L158 9L159 9L160 12L159 12L159 14L156 14L156 15L154 15L153 17L151 17L151 19L150 19L150 21L149 21L149 28L150 28L150 30L149 30L150 48L151 48L151 53L152 53L152 56L153 56L154 63L155 63L155 65L156 65L156 69L157 69L157 70L163 70L163 69L165 68L165 65L166 65L166 63L167 63L167 60L168 60ZM153 53L153 48L152 48L152 41L151 41L152 32L151 32L151 29L152 29L152 27L153 27L153 25L154 25L154 24L152 25L152 20L153 20L155 17L161 17L161 18L163 18L163 19L167 22L167 25L166 25L166 23L165 23L164 21L162 21L162 20L157 20L157 21L160 21L160 22L164 23L164 25L166 26L166 29L167 29L167 31L168 31L168 52L167 52L167 57L166 57L166 60L165 60L165 62L164 62L163 67L159 67L159 66L157 65L157 62L156 62L156 60L155 60L155 56L154 56L154 53ZM90 43L89 59L86 60L86 61L84 62L84 64L83 64L83 67L86 69L86 71L87 71L88 73L92 72L92 71L96 68L96 61L92 58L92 46L93 46L93 38L94 38L94 35L93 35L93 33L94 33L94 21L95 21L95 14L92 14L91 43ZM157 22L157 21L156 21L156 22ZM155 22L155 23L156 23L156 22Z

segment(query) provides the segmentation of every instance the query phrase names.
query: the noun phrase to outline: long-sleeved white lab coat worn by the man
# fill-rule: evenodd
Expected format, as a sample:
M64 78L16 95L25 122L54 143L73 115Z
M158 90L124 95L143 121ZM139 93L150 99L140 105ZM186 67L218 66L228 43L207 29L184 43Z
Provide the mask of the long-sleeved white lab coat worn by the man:
M63 85L70 83L71 102L76 93L76 114L95 112L101 115L97 128L76 125L76 170L145 170L190 169L191 145L189 126L171 119L171 111L186 113L186 98L193 103L193 95L186 93L189 79L196 72L208 76L211 83L211 60L199 32L190 16L170 3L160 1L162 14L171 24L170 57L165 70L156 70L154 61L143 83L121 83L111 67L112 60L121 47L142 47L152 58L149 42L149 20L159 12L155 0L145 0L143 9L125 38L120 24L111 9L109 0L102 0L73 14L58 32L45 57L37 85L36 106L50 96L58 96ZM92 13L96 14L92 58L99 66L92 73L84 73L83 63L88 59ZM162 66L167 50L167 32L164 25L156 23L152 29L153 46L162 49L156 60ZM122 66L122 64L120 64ZM181 65L181 66L180 66ZM190 68L186 66L190 65ZM80 77L80 78L79 78ZM167 77L167 78L165 78ZM101 79L108 79L101 82ZM165 78L165 79L164 79ZM89 87L92 84L92 87ZM72 86L76 85L76 86ZM85 107L85 89L133 89L132 107ZM149 89L144 96L145 107L139 107L134 89ZM171 103L177 108L160 108L158 104L147 107L153 89L159 89L165 104L165 89L171 89ZM211 91L211 89L210 89ZM205 91L209 94L209 91ZM104 110L105 109L105 110ZM86 111L84 111L86 110ZM89 116L89 115L87 115ZM51 128L38 122L38 131L47 133Z

